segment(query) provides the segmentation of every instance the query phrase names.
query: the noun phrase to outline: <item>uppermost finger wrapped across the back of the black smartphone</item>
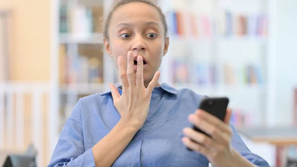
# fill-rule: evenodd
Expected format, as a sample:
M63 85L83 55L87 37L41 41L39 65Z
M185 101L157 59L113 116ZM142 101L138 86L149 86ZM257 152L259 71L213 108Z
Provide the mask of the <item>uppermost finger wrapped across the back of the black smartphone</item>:
M221 131L223 132L228 132L229 131L229 125L227 125L226 123L224 123L222 120L220 120L219 118L217 118L216 116L198 109L196 111L196 114L198 117L200 117L203 120L208 121L209 123L213 124L215 127L219 128ZM225 116L226 117L226 116Z

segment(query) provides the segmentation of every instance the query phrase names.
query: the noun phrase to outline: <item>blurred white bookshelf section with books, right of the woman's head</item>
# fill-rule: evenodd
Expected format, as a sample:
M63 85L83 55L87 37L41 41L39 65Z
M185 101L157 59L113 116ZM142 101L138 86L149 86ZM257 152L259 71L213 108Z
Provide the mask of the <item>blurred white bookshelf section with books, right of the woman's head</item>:
M227 96L237 127L265 126L267 0L159 0L170 37L161 80Z

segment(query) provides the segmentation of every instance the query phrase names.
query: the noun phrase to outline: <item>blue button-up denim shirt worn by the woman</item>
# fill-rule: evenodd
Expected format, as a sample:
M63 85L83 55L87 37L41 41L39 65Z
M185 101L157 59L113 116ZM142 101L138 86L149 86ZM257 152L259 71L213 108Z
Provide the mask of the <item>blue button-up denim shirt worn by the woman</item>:
M118 89L120 94L121 89ZM188 151L182 130L202 96L161 84L152 91L148 117L112 167L208 167L207 159ZM110 91L81 98L63 126L48 167L95 167L92 147L119 121ZM258 167L269 167L251 153L233 125L232 146Z

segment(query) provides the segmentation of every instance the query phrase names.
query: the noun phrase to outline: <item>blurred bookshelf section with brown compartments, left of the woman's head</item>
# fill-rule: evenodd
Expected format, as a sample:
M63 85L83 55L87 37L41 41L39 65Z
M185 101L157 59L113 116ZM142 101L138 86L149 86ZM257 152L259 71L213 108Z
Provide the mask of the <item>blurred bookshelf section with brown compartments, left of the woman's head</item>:
M101 23L104 8L111 3L110 0L59 0L59 128L79 98L105 90L106 55Z

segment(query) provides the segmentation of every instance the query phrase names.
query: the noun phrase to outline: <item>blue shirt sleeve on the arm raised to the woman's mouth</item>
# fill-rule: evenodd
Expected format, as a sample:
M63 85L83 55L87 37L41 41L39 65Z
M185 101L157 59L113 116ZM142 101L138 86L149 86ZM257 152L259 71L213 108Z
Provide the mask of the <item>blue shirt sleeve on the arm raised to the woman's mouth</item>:
M84 149L80 101L66 120L48 167L95 167L92 148Z

